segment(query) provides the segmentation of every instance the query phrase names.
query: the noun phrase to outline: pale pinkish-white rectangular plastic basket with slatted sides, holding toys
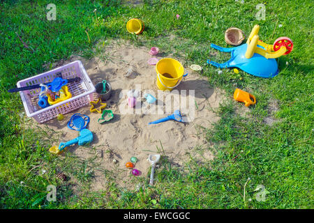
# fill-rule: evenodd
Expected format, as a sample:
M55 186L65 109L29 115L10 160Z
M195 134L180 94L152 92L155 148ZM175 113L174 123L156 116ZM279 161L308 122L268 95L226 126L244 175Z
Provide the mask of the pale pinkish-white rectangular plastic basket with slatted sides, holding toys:
M38 95L40 89L32 89L27 91L20 91L24 109L27 116L33 117L38 123L44 123L52 118L56 118L58 114L67 114L75 109L88 105L90 101L94 100L94 92L96 91L94 84L91 82L89 75L81 61L74 61L68 63L54 70L44 72L34 77L29 77L17 82L17 87L31 86L33 84L43 84L52 82L57 73L61 72L63 79L70 79L80 77L80 82L72 82L67 84L72 98L64 100L56 105L50 105L46 108L38 106Z

